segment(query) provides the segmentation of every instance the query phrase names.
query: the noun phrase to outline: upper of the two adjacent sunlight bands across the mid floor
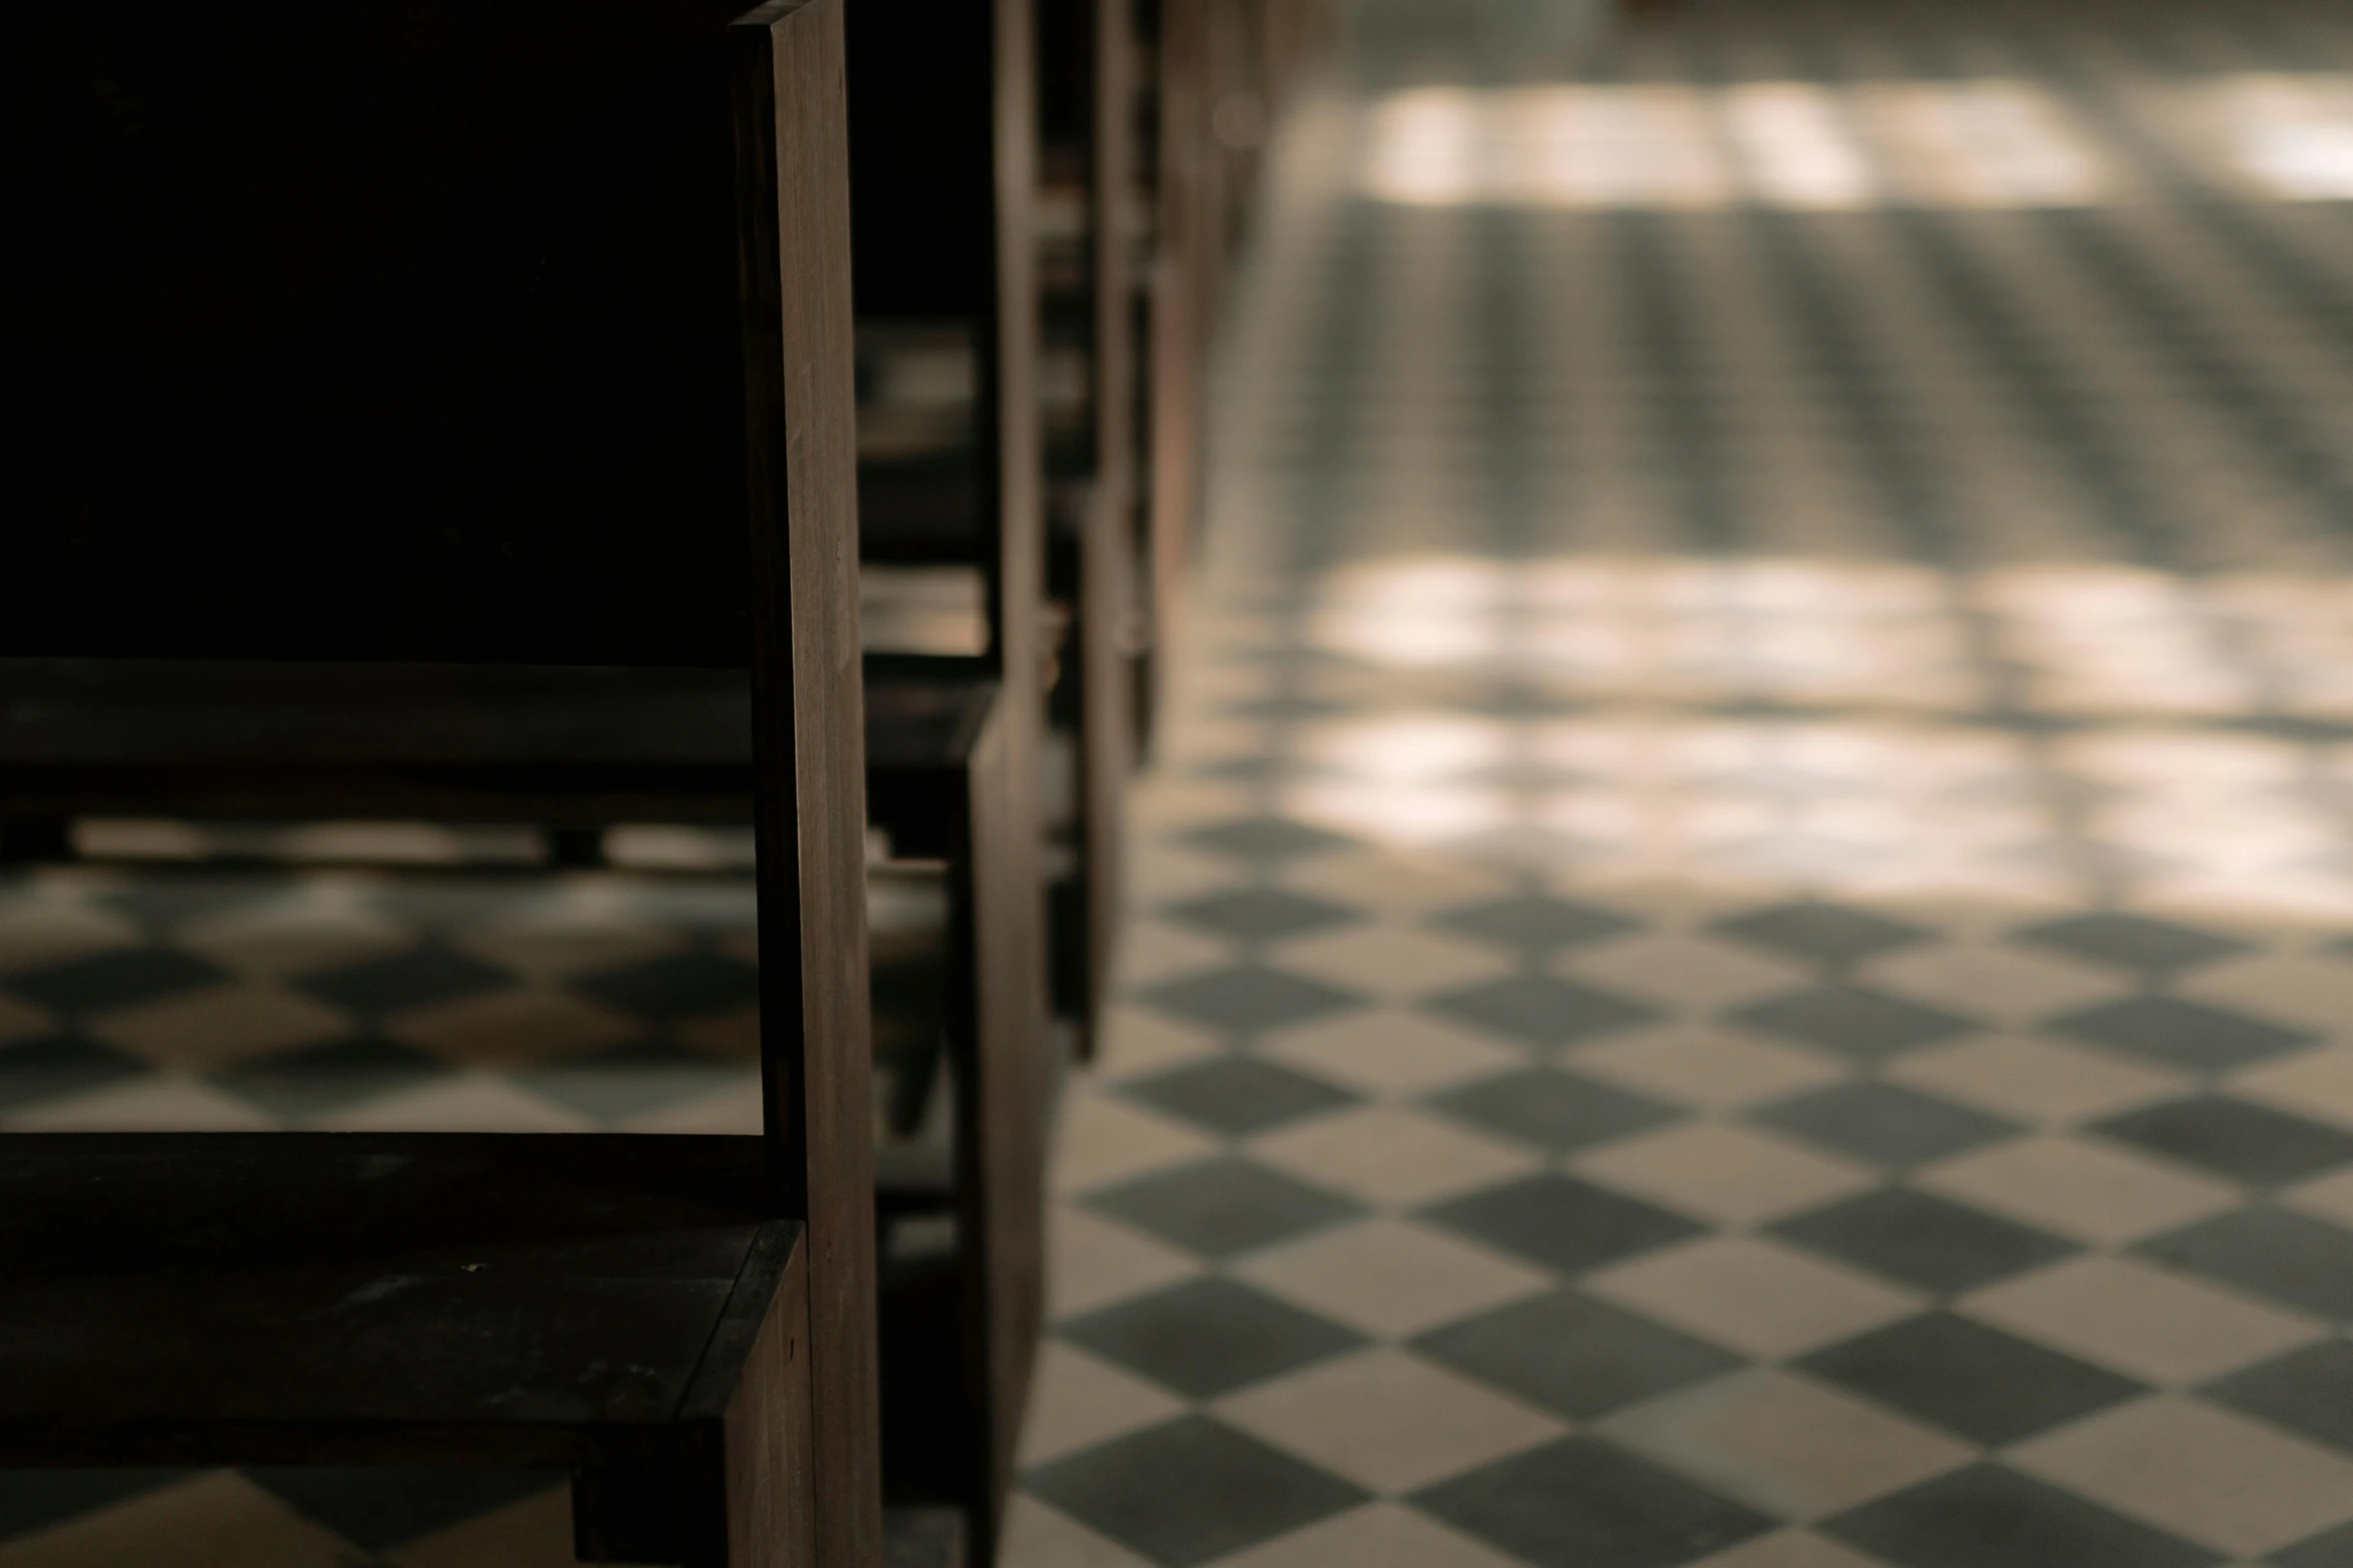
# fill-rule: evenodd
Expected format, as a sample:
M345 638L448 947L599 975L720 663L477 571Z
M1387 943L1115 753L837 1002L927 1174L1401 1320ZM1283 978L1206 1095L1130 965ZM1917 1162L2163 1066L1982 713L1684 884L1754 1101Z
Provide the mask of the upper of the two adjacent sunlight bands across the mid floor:
M1555 696L2353 719L2353 583L2049 564L1407 557L1339 571L1318 646Z

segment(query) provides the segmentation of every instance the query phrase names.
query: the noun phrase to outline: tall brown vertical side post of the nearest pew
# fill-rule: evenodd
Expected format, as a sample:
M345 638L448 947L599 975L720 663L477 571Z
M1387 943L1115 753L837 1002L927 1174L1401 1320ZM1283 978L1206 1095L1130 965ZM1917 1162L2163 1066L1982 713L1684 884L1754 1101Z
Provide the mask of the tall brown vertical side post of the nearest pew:
M816 1561L882 1554L842 0L729 31L769 1201L805 1215Z

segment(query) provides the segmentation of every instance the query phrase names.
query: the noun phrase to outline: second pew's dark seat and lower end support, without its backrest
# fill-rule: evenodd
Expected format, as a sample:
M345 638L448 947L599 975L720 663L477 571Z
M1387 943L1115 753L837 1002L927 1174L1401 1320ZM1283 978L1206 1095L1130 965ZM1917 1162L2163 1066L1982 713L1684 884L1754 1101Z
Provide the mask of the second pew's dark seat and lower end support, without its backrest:
M927 1053L878 1063L899 1133L878 1150L885 1253L932 1218L955 1232L953 1251L887 1269L887 1490L894 1507L962 1509L986 1561L1038 1333L1052 1063L1038 919L1016 903L1035 891L1019 858L1031 818L1009 792L986 670L866 663L871 820L894 825L899 853L936 860L948 886L944 1159L913 1138L927 1107L911 1074ZM231 820L299 804L329 818L736 825L755 799L741 670L35 661L7 691L5 795L28 813L172 802Z

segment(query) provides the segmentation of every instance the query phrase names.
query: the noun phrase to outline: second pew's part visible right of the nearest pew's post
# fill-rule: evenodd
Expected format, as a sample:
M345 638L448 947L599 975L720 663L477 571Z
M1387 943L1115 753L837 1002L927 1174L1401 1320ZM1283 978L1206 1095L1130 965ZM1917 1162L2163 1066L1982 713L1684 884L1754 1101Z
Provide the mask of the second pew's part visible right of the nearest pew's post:
M1031 0L868 0L849 12L852 233L859 299L861 555L878 623L941 576L976 623L946 644L871 642L868 701L962 715L958 766L875 776L894 849L972 867L958 898L972 1067L958 1084L960 1286L887 1267L885 1338L939 1361L885 1368L894 1500L955 1502L993 1561L1042 1321L1042 1180L1061 1046L1047 1006L1045 602L1038 407L1035 33ZM936 616L953 628L955 616ZM908 738L932 733L913 724ZM873 731L878 757L896 741ZM911 1215L915 1218L915 1215ZM941 1316L955 1312L953 1331ZM946 1359L955 1352L953 1361ZM941 1389L958 1420L939 1420Z

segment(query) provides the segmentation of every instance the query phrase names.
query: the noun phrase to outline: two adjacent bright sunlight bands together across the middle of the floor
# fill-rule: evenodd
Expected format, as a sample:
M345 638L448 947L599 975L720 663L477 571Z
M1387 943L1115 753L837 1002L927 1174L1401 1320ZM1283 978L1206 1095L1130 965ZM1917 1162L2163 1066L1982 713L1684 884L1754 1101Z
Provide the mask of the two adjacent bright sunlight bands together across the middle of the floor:
M1327 581L1311 639L1400 679L1541 679L1537 625L1617 625L1649 663L1621 658L1527 717L1447 710L1459 686L1426 710L1391 689L1398 710L1304 729L1280 809L1402 849L1492 842L1522 863L1744 884L2085 898L2129 860L2174 898L2346 917L2353 872L2332 856L2353 741L2247 722L2353 722L2353 705L2299 708L2266 642L2240 635L2249 609L2299 663L2329 649L2353 689L2353 583L2332 578L1362 562ZM1729 654L1678 663L1671 628ZM1781 635L1859 675L1774 686L1784 665L1760 675L1751 654ZM1440 646L1454 654L1433 663ZM1974 670L1969 701L1918 696L1925 672L1972 661L2002 670Z

